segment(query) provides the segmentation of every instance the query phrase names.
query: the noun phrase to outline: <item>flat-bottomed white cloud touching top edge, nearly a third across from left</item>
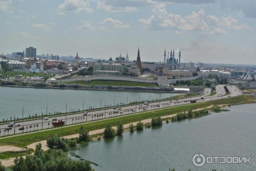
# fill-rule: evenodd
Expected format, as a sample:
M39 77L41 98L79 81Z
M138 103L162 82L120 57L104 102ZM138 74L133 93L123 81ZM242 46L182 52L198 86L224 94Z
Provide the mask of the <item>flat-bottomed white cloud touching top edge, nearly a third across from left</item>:
M61 3L56 13L63 15L65 11L74 11L76 13L91 13L94 10L90 6L91 0L65 0Z

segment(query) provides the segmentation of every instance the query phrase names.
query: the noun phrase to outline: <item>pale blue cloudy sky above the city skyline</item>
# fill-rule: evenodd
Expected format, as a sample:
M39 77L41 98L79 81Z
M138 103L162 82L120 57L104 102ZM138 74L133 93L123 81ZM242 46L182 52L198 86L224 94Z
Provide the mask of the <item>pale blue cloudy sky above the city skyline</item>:
M256 64L256 0L0 0L0 54ZM167 52L166 52L167 55Z

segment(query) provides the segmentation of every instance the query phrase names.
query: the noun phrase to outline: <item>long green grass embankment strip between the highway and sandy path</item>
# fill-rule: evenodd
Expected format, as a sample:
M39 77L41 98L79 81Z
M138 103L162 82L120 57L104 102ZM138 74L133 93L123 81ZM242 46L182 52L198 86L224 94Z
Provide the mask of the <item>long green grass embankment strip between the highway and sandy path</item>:
M204 103L195 103L190 105L182 105L173 108L166 108L157 111L148 111L140 114L128 115L125 117L116 117L110 120L99 120L94 123L84 123L82 124L88 131L93 131L101 128L105 128L106 124L110 124L111 126L116 126L118 122L122 122L123 124L133 123L140 120L150 119L153 117L161 117L170 114L176 114L183 111L194 110L198 108L205 108L209 105L220 105L220 104L242 104L242 103L250 103L250 101L255 100L251 96L239 96L239 97L231 97L227 99L220 99L215 101L209 101ZM63 127L60 129L53 129L49 131L43 132L35 132L33 134L20 135L16 137L9 137L0 140L0 145L15 145L18 147L24 147L33 142L38 142L41 140L47 140L51 135L57 134L59 137L77 134L79 132L79 128L82 125L74 125L70 127Z

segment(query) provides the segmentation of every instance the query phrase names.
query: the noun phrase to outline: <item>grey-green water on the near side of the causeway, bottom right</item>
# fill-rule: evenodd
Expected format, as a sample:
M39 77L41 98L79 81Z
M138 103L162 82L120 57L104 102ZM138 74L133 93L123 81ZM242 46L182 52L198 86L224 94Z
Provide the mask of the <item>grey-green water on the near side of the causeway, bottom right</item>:
M72 152L99 164L92 165L96 171L255 170L256 105L236 105L228 109L230 111L196 119L164 123L158 128L126 132L113 139L79 145L79 149ZM196 167L192 164L196 153L205 157L252 157L252 163L206 163Z

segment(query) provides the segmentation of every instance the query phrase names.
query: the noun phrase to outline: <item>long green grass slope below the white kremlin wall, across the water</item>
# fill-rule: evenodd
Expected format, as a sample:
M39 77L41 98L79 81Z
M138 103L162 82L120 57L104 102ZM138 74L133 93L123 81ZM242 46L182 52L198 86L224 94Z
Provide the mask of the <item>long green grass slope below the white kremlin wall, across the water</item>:
M119 81L119 80L92 80L92 81L71 81L66 84L81 84L81 85L119 85L119 86L143 86L143 87L156 87L157 84L140 83L133 81Z

